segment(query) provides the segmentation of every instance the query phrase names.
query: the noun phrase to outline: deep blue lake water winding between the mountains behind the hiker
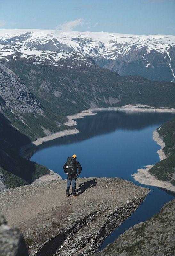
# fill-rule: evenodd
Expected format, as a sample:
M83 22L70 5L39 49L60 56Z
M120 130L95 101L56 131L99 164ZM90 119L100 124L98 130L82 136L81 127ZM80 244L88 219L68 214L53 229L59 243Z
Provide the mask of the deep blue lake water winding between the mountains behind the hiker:
M175 114L171 113L98 112L76 120L80 133L35 148L31 160L54 170L63 179L67 157L76 154L82 165L80 177L118 177L151 189L137 211L104 240L100 249L134 224L146 221L174 198L173 193L140 184L131 176L137 169L159 161L160 146L152 139L153 131L173 117Z

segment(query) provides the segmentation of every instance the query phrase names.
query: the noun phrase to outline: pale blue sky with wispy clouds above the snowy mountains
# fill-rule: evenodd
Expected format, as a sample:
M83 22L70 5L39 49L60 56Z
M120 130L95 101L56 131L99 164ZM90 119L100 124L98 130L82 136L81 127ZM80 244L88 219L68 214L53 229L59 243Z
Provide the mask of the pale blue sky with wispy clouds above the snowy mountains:
M175 0L0 0L0 28L175 35Z

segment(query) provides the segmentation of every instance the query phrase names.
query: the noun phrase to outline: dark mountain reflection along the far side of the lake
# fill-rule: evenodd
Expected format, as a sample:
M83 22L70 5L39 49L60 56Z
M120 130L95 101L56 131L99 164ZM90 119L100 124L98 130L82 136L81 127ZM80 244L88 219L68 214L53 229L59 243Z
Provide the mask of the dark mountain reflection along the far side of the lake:
M154 124L159 125L160 123L164 123L174 116L172 113L101 111L97 115L86 116L76 120L77 125L75 127L80 133L45 142L30 150L25 157L30 159L36 151L43 148L83 141L100 134L113 132L117 129L141 130Z

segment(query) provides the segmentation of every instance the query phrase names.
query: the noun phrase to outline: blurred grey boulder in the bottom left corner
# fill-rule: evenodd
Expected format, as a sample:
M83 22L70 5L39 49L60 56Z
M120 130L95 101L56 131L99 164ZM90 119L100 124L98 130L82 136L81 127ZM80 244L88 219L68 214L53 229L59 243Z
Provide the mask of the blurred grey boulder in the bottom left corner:
M10 228L0 215L0 255L28 256L26 244L18 228Z

